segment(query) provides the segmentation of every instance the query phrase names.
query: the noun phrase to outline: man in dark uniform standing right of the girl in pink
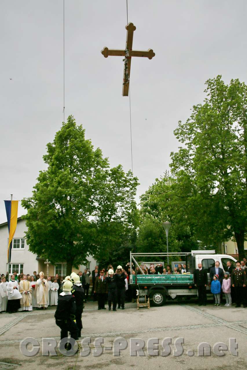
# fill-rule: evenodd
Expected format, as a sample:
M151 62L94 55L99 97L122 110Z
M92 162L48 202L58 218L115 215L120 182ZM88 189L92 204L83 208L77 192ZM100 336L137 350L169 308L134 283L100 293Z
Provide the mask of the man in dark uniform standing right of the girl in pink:
M231 284L234 287L236 307L241 306L243 300L243 306L247 307L246 297L246 272L245 269L241 269L240 262L236 262L236 269L231 272Z

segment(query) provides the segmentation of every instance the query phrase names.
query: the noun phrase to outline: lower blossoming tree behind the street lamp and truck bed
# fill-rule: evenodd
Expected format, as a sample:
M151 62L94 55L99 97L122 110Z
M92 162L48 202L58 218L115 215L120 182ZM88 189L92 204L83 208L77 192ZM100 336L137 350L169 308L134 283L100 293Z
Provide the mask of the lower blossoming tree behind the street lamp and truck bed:
M190 227L182 222L179 200L175 195L176 179L168 172L141 195L141 225L138 251L166 252L167 242L162 221L171 221L169 252L190 252L198 248ZM150 248L149 248L150 247Z

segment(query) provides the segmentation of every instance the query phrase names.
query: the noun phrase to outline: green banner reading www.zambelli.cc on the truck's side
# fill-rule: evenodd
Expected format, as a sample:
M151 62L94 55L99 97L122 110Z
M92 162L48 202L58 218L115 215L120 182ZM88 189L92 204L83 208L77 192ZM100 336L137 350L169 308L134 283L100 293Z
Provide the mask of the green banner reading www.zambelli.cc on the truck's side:
M132 275L132 284L193 284L192 274Z

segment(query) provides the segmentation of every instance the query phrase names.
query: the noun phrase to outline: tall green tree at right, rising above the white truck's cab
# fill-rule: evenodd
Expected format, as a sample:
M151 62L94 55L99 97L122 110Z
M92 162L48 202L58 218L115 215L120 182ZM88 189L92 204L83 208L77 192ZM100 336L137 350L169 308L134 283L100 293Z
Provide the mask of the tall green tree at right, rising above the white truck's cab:
M247 86L227 85L221 76L206 81L204 104L194 105L174 131L183 144L171 153L174 194L181 222L200 240L234 237L240 258L247 231ZM183 219L183 220L182 220Z

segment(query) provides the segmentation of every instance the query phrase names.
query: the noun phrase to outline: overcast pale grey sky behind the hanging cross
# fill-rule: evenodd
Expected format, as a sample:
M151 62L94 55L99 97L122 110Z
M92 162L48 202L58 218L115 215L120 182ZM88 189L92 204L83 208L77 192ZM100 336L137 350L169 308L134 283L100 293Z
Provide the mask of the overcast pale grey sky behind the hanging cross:
M173 130L222 74L247 82L247 1L129 0L136 26L132 58L133 169L138 196L169 169ZM125 48L125 0L65 0L65 114L112 166L131 168L129 98L123 61L101 50ZM63 121L63 0L2 0L0 5L0 199L30 196L42 155ZM12 78L13 80L10 80ZM0 222L6 221L1 201ZM25 211L19 207L18 215Z

